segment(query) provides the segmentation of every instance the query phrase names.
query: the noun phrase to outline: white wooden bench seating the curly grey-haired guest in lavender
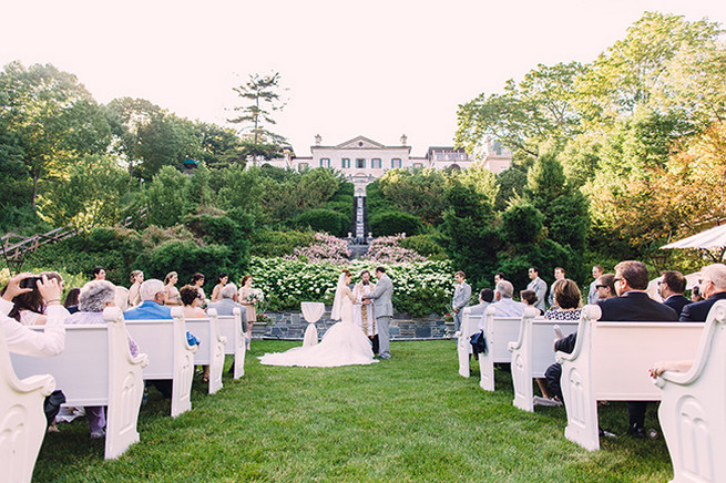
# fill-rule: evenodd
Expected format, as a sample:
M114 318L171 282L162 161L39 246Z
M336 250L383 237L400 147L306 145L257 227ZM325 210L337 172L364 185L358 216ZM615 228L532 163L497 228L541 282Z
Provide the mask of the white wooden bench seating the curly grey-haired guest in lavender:
M50 373L65 394L67 405L108 405L105 459L119 458L139 441L136 420L144 393L144 353L133 357L121 309L103 311L106 325L65 326L65 349L39 358L11 354L23 377Z

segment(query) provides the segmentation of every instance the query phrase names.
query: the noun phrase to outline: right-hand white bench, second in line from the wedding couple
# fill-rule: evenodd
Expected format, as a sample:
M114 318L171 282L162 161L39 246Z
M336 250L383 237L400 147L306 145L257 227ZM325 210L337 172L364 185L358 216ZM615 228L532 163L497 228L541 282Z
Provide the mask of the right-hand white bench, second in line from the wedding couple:
M494 363L511 362L509 342L519 338L521 317L497 317L497 307L491 305L484 311L484 337L487 353L479 354L479 386L484 391L494 390Z

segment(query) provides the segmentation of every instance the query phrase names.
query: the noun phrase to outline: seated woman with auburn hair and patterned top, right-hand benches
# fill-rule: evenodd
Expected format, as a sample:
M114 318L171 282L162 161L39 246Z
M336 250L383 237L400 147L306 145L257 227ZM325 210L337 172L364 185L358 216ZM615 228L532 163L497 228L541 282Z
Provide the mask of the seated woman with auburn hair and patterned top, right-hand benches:
M602 277L601 277L602 278ZM582 294L577 284L565 278L553 284L554 305L560 307L559 310L548 310L544 318L548 320L580 320L582 309L580 298ZM563 341L564 340L564 341ZM575 342L575 335L567 336L564 339L556 340L554 350L572 352ZM545 371L544 378L536 378L536 383L542 391L543 398L534 398L534 403L539 405L562 405L562 388L560 387L560 377L562 367L558 363L550 366Z

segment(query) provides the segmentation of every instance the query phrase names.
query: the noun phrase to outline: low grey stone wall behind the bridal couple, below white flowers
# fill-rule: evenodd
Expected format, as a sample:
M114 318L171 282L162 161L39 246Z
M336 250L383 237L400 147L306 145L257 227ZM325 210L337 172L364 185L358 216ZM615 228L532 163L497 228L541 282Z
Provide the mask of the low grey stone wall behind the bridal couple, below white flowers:
M253 338L303 340L307 322L300 312L265 312L275 323L253 326ZM330 307L326 307L323 318L315 322L318 337L323 337L330 326ZM391 320L391 340L448 339L453 335L453 322L444 322L433 317L413 319L406 314L397 314Z

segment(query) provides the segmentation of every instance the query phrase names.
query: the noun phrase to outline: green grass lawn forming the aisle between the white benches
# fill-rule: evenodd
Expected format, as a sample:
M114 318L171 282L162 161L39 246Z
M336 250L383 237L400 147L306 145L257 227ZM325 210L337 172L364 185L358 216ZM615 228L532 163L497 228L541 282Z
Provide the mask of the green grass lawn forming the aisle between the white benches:
M152 390L141 442L103 460L84 420L45 438L34 481L667 481L663 438L626 435L623 403L601 407L620 436L589 453L564 438L562 408L512 407L509 372L479 388L478 366L458 376L453 341L392 345L393 359L365 367L280 368L257 356L299 342L255 341L246 374L215 395L195 379L192 411L168 417ZM229 364L227 360L227 367ZM647 427L658 428L655 404ZM658 428L659 430L659 428Z

